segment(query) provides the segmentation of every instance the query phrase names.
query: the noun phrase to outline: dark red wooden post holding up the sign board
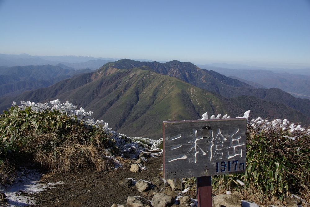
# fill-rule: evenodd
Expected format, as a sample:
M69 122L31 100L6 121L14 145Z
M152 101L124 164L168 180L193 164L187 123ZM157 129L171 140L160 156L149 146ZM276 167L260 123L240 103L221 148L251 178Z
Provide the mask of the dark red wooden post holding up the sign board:
M198 207L212 207L211 176L197 177Z

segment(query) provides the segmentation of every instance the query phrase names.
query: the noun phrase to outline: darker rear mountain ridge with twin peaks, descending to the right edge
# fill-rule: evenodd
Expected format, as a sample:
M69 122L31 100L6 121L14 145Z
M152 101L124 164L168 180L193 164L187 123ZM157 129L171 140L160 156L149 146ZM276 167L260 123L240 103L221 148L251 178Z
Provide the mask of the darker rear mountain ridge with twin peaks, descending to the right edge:
M239 97L246 95L259 97L266 101L277 101L310 117L310 109L308 107L310 100L308 99L296 98L281 89L254 88L253 86L226 77L218 72L200 69L189 62L181 63L175 60L167 63L158 63L122 59L113 63L105 64L96 71L94 77L100 78L119 70L128 70L132 67L142 66L148 66L159 74L176 77L199 88L219 93L224 97Z

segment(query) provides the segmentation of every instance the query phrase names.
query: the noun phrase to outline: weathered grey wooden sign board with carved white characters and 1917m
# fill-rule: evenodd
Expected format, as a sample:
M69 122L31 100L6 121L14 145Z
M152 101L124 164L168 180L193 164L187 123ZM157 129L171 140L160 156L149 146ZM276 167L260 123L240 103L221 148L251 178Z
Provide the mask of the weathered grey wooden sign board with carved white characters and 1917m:
M164 179L245 172L246 121L163 122Z

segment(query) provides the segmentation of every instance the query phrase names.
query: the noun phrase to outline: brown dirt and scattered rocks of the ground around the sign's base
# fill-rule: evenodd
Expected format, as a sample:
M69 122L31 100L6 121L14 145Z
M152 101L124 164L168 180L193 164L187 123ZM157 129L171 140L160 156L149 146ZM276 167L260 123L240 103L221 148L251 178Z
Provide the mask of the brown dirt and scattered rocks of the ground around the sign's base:
M78 172L43 175L40 183L45 186L44 190L35 194L26 193L26 197L32 197L35 204L29 202L25 202L25 204L35 207L181 207L197 205L195 189L186 189L181 192L184 187L188 186L184 183L181 189L179 179L176 179L177 182L168 180L165 185L166 190L163 190L162 154L151 156L142 153L140 156L143 158L124 160L123 167L119 167L117 170L94 172L91 169L86 169ZM25 192L18 191L18 193ZM299 206L300 199L292 198L286 203L287 207L301 207ZM1 202L0 206L2 206ZM215 196L213 207L219 206L259 207L255 203L241 201L240 197L235 195Z

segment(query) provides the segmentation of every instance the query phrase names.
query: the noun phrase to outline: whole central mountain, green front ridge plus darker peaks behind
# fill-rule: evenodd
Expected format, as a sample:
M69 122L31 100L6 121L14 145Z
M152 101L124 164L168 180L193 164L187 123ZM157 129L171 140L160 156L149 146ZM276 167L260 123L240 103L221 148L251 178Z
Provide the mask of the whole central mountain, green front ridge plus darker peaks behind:
M224 97L221 94L225 94ZM228 95L227 95L228 94ZM192 63L106 63L97 71L61 80L47 88L0 98L0 109L12 101L69 100L96 119L130 136L162 137L162 121L200 119L204 112L239 116L246 110L267 118L310 123L310 100L280 89L257 89Z

